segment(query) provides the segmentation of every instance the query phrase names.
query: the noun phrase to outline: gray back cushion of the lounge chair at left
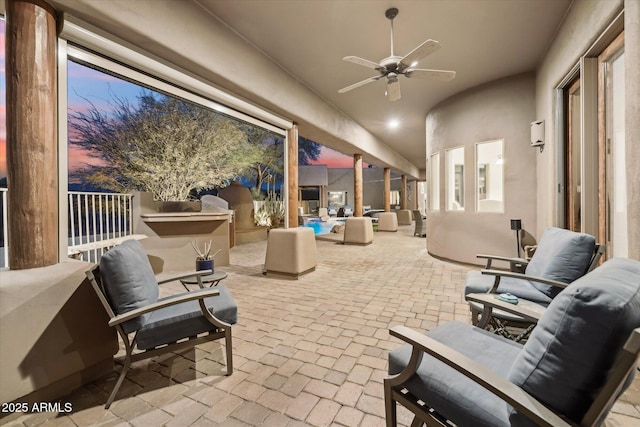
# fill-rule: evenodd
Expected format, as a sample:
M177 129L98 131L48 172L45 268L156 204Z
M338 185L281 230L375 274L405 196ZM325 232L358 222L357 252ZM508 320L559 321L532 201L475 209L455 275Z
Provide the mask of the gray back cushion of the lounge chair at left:
M158 300L158 282L147 253L137 240L126 240L107 251L100 259L100 276L116 314L153 304ZM138 330L149 315L122 324L126 333Z

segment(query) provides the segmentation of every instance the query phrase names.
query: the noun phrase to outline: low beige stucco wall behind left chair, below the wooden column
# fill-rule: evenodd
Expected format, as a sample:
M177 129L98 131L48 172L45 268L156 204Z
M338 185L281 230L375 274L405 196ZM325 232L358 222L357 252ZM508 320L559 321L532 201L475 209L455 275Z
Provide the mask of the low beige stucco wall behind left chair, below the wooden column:
M0 402L57 401L112 369L118 341L90 266L0 271Z

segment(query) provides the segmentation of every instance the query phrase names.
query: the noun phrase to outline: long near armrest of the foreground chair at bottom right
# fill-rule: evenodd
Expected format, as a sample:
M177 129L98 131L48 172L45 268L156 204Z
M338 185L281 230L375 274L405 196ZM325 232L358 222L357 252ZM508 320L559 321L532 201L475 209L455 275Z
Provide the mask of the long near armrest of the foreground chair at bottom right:
M411 344L414 350L417 349L435 357L480 384L482 387L513 406L520 413L530 418L537 425L549 427L571 426L571 424L568 424L564 419L542 403L538 402L533 396L520 387L510 383L506 379L495 374L493 371L434 340L433 338L405 326L394 326L389 330L389 333L392 336ZM399 375L402 376L402 373ZM389 381L393 382L393 378L389 379Z

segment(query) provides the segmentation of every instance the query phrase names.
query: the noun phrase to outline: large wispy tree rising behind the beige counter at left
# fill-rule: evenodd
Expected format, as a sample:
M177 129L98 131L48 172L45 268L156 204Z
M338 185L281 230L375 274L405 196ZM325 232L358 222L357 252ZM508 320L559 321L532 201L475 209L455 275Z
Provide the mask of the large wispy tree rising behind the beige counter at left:
M76 144L101 160L84 178L115 191L143 190L158 200L187 200L191 190L220 186L261 159L240 124L214 111L142 93L137 105L112 101L70 114Z

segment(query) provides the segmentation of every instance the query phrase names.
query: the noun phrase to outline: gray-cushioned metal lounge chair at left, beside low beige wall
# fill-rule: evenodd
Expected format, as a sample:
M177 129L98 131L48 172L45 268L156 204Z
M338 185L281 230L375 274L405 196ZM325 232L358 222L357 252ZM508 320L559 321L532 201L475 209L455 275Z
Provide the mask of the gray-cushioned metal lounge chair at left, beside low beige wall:
M109 326L118 331L126 352L115 358L123 367L105 408L116 397L132 362L203 342L225 339L226 374L231 375L231 325L237 322L238 308L229 290L216 286L158 298L160 283L195 276L203 288L201 276L211 273L193 271L157 282L147 254L136 240L109 250L99 266L86 272L109 315Z

